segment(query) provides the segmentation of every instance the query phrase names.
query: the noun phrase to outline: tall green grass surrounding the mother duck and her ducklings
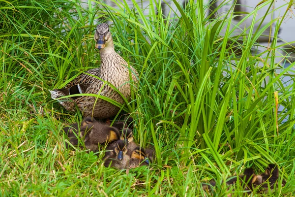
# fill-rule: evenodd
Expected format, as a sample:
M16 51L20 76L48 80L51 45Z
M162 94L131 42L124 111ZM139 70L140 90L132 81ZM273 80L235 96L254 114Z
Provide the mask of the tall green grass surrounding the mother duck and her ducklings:
M271 14L273 2L249 15L262 6ZM269 48L251 54L270 23L255 30L261 21L254 18L249 34L236 36L228 27L236 15L210 19L201 0L175 19L153 6L144 16L125 1L118 8L90 3L83 9L69 0L0 1L1 196L204 196L200 183L211 178L214 194L224 196L230 191L222 181L231 174L245 167L263 172L269 163L280 166L279 181L287 185L268 196L295 195L295 64L274 61L288 44L277 43L285 16L271 21ZM114 22L116 51L140 75L125 107L135 119L135 138L156 150L154 164L128 173L104 167L103 153L65 149L62 127L82 116L64 110L48 91L99 66L93 33L97 20L106 19ZM234 194L243 195L241 188Z

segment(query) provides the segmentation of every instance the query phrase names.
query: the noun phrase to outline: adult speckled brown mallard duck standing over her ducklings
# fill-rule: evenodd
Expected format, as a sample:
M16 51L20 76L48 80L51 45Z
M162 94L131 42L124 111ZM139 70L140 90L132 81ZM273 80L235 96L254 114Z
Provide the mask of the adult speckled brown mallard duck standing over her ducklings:
M59 103L70 111L75 110L76 104L84 117L91 116L104 119L115 116L119 108L104 99L97 99L92 96L79 96L79 94L100 94L100 96L123 104L123 98L106 82L111 83L126 99L129 99L131 95L130 81L133 80L134 84L136 84L138 73L134 67L129 66L115 52L113 38L108 24L101 23L97 25L94 40L96 42L95 47L99 49L101 59L100 67L80 74L64 88L50 91L50 94L52 99L76 95L75 97L60 99ZM132 76L131 79L130 76Z

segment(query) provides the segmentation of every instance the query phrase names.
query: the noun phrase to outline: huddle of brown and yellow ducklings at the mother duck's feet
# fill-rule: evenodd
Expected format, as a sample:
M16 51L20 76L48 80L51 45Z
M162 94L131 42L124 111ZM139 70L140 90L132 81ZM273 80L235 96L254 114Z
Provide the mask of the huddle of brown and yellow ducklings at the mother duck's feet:
M85 147L93 152L99 151L101 146L106 146L103 158L106 167L129 169L148 165L154 157L152 148L144 149L133 141L132 122L132 118L127 118L124 121L114 122L111 127L107 123L86 117L80 125L74 123L63 130L74 146L83 141Z

